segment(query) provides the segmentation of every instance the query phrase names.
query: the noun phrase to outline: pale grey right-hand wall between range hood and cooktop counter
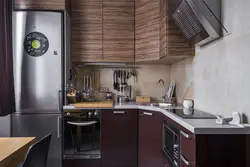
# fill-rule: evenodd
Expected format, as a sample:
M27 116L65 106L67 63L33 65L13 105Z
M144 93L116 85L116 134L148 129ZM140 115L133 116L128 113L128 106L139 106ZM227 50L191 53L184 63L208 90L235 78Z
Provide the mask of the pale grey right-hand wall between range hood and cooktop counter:
M178 100L193 98L195 107L230 116L250 117L250 1L224 0L224 25L230 34L171 66Z

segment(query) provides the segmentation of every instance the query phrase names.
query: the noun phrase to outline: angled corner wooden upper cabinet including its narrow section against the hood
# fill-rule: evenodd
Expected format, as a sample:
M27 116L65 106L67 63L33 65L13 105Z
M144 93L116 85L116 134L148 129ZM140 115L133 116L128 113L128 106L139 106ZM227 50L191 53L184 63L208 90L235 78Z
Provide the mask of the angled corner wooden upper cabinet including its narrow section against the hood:
M136 0L136 62L160 60L172 64L194 56L194 47L188 44L172 19L171 1Z

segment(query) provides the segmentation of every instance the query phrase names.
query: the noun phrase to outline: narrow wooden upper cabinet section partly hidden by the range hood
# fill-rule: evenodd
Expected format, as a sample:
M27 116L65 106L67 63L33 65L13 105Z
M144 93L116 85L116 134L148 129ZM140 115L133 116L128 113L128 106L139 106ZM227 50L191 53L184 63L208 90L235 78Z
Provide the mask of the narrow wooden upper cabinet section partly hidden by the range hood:
M190 46L172 19L176 9L173 0L160 0L160 57L169 63L194 56L195 48Z

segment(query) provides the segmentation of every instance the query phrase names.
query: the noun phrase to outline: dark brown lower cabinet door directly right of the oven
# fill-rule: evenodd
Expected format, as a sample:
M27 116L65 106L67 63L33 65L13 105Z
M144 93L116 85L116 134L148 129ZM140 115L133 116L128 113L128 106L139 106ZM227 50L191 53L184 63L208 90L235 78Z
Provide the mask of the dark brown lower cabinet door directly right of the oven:
M101 115L102 167L137 166L137 111L104 110Z

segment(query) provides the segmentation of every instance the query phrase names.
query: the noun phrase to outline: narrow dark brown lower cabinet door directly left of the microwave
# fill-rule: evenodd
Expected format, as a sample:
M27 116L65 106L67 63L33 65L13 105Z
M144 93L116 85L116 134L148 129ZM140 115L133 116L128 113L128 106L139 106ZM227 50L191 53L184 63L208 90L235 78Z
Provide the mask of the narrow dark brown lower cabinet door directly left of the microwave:
M164 167L162 117L157 112L139 111L138 167Z

